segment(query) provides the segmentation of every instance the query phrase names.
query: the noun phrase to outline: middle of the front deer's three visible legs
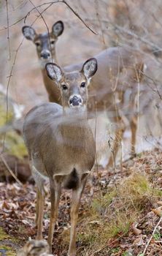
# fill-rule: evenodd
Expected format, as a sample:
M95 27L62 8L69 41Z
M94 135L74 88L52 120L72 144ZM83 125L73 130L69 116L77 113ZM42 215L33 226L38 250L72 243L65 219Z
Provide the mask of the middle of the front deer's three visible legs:
M58 219L58 204L61 196L61 184L56 181L50 181L50 228L48 233L48 244L50 246L50 252L52 252L53 232L55 229L55 222Z

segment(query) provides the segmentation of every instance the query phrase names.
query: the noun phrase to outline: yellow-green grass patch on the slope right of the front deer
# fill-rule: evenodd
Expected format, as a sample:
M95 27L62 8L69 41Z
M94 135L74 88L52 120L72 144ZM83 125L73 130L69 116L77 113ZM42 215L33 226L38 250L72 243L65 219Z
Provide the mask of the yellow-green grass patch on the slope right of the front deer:
M161 190L152 187L147 176L139 172L123 178L104 196L98 192L78 222L78 254L85 255L82 248L86 247L86 255L89 255L88 251L90 255L96 255L111 238L126 236L139 214L150 211L161 195ZM64 242L67 242L66 236Z

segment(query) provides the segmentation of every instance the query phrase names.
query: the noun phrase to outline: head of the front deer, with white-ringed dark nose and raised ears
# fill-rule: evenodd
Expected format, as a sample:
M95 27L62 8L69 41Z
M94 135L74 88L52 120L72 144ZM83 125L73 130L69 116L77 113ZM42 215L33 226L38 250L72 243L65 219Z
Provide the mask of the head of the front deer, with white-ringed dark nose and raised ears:
M97 61L88 59L82 65L80 71L63 72L57 64L46 64L47 75L52 79L61 91L63 109L84 108L88 101L88 84L90 78L96 73Z

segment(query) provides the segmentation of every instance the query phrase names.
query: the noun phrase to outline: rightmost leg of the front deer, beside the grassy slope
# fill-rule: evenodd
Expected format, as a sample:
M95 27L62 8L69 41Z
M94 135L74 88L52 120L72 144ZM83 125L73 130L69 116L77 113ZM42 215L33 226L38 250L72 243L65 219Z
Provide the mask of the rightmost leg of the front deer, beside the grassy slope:
M72 206L71 206L71 231L70 231L70 244L68 256L76 256L76 228L77 228L77 219L78 219L78 211L80 205L80 199L82 197L82 191L85 187L85 183L87 181L88 175L83 174L82 184L77 189L73 189L72 191Z

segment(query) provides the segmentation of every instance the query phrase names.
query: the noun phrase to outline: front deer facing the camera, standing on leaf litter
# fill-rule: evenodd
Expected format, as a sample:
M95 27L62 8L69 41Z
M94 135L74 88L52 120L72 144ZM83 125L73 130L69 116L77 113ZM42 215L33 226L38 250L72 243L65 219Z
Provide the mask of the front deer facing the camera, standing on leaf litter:
M52 251L53 230L58 218L61 188L72 189L69 256L76 255L76 226L80 199L95 162L96 145L88 124L87 103L90 79L97 71L95 58L82 68L64 72L57 64L47 63L47 75L57 83L62 106L47 102L35 106L26 115L23 138L28 148L31 173L37 187L36 239L42 239L45 202L45 177L50 180L50 228L48 244Z

